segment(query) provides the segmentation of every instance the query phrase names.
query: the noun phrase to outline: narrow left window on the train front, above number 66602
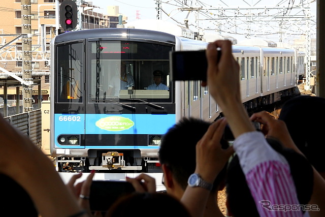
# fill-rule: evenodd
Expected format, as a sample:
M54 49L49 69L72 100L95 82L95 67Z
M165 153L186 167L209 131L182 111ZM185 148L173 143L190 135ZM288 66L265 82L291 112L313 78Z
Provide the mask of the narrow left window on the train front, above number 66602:
M57 102L81 103L83 94L83 43L57 46Z

